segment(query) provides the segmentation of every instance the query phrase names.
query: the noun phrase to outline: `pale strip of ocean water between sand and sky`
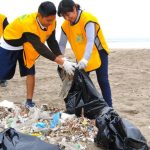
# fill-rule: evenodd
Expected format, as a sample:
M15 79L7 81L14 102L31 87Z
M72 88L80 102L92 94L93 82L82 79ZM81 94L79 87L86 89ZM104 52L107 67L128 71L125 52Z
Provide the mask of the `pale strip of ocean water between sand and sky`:
M143 39L108 39L109 48L137 48L150 49L150 38Z

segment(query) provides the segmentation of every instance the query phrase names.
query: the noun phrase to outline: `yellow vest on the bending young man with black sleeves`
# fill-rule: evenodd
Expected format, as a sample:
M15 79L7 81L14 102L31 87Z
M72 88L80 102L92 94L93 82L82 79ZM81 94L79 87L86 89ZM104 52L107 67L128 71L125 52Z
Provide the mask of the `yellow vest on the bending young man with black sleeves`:
M49 38L52 32L56 28L56 20L49 25L47 31L40 28L37 20L37 13L32 13L28 15L23 15L17 18L14 22L9 24L4 31L4 39L14 40L20 39L24 33L32 33L40 38L42 43ZM31 68L35 60L39 57L39 53L34 49L34 47L29 42L23 44L24 48L24 63L27 68Z

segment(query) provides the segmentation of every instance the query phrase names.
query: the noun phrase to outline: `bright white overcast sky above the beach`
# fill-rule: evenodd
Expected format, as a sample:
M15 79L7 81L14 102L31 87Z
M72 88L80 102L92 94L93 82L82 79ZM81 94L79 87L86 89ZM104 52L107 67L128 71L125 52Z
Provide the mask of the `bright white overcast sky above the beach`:
M37 11L44 0L0 0L0 13L11 22L17 16ZM150 0L74 0L85 11L95 15L106 40L150 40ZM56 7L60 0L51 0ZM63 18L57 17L59 40Z

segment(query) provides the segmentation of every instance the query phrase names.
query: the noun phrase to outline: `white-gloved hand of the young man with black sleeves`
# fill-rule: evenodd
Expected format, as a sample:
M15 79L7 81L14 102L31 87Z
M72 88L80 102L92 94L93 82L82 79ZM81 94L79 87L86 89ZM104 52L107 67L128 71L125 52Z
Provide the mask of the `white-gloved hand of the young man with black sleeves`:
M63 67L69 75L74 74L76 66L76 63L70 62L67 59L64 60Z

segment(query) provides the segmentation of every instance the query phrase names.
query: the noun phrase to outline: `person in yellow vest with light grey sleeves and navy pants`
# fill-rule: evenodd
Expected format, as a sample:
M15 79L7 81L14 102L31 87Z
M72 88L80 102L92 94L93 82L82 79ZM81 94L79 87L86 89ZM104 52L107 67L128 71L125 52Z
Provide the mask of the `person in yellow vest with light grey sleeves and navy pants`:
M64 54L66 43L69 41L79 69L84 69L88 74L96 71L103 98L112 107L108 80L110 52L97 18L82 11L73 0L62 0L58 6L58 15L65 19L59 41L61 52Z

